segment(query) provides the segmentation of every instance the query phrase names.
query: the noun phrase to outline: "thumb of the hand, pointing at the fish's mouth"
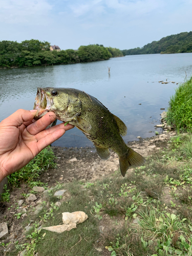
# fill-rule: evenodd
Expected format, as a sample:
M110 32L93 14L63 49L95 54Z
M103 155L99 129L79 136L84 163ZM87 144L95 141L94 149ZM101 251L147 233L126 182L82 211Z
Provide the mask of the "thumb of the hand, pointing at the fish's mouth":
M3 126L20 126L24 122L31 121L35 115L36 115L36 110L17 110L14 112L12 115L4 119L1 124Z

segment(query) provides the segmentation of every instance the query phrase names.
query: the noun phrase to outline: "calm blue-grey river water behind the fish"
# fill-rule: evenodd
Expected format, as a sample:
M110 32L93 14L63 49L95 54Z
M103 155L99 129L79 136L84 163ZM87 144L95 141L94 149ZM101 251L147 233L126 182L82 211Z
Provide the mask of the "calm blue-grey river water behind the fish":
M111 67L111 74L108 74ZM33 109L37 87L76 88L93 95L127 126L125 142L161 132L155 125L170 96L192 75L192 53L132 55L73 65L0 70L0 121L17 109ZM175 81L161 84L158 81ZM58 121L59 123L60 121ZM93 146L76 127L53 143Z

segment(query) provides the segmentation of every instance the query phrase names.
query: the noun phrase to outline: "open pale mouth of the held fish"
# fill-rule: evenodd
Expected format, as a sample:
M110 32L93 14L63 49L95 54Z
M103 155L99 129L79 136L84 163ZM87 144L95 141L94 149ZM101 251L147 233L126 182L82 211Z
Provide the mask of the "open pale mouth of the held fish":
M37 113L34 119L39 119L48 113L53 105L53 99L49 97L43 88L37 87L37 94L35 97L34 110L37 110Z

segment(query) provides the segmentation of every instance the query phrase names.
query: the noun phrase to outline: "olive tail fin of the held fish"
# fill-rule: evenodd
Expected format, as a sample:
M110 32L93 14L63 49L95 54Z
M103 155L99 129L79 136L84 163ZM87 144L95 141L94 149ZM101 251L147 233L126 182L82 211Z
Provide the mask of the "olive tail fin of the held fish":
M123 177L130 166L136 167L145 163L144 157L132 150L130 147L128 148L129 150L125 155L119 156L120 170Z

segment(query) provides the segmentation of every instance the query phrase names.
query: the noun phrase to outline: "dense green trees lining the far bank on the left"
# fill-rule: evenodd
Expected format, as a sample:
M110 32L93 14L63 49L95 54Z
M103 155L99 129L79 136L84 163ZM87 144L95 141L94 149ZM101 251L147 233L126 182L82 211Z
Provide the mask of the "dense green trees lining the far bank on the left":
M123 56L119 49L103 45L80 46L78 50L50 51L50 43L39 40L0 41L0 67L32 67L106 60Z

